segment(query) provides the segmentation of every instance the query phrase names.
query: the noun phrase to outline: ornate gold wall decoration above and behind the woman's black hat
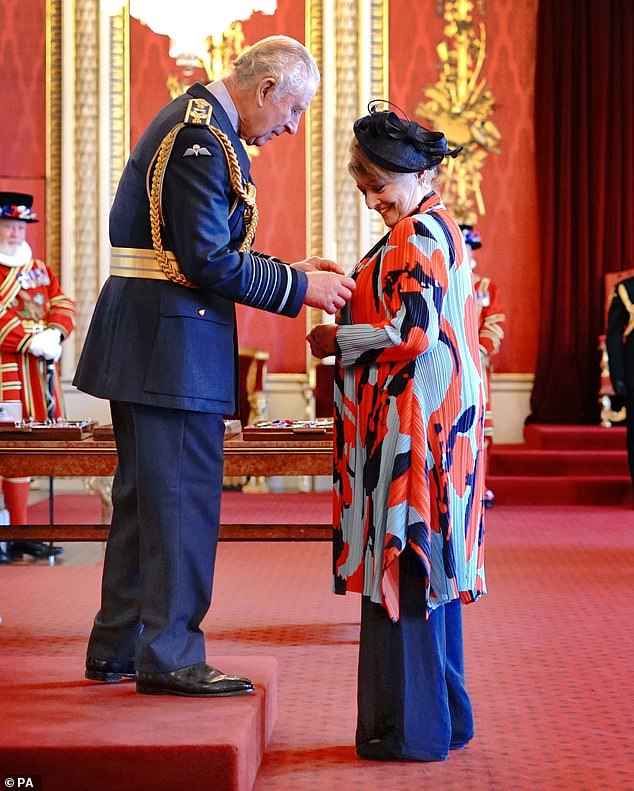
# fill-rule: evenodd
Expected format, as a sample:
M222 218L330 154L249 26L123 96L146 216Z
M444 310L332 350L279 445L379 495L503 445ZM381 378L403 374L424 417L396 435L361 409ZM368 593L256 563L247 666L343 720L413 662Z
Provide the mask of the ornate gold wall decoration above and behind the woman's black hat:
M489 152L499 153L501 139L491 120L494 98L482 76L486 28L482 19L474 21L471 0L444 0L438 5L446 37L436 47L440 76L426 88L428 100L415 112L427 126L443 131L452 146L463 146L458 157L448 160L442 194L458 222L474 225L477 216L485 214L481 185L486 158ZM478 12L484 16L484 0L478 3Z

